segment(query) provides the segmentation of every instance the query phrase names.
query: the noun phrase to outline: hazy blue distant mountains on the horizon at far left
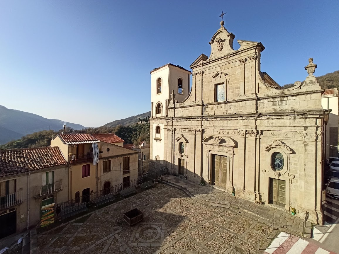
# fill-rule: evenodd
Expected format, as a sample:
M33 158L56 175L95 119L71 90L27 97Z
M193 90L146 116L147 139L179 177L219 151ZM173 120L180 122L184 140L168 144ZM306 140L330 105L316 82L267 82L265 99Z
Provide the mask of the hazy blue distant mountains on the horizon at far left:
M63 128L64 123L72 129L81 130L86 128L80 124L68 123L58 119L47 119L37 114L8 109L0 105L0 145L11 140L20 139L26 134L39 130L51 129L58 131Z

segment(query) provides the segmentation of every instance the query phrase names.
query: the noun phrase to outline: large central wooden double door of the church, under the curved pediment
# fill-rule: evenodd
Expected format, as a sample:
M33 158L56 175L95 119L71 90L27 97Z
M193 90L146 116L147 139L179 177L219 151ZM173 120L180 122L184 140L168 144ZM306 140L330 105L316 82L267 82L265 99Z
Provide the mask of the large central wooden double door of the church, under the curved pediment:
M227 156L213 154L212 184L223 187L227 185Z

